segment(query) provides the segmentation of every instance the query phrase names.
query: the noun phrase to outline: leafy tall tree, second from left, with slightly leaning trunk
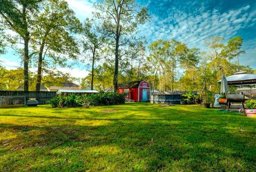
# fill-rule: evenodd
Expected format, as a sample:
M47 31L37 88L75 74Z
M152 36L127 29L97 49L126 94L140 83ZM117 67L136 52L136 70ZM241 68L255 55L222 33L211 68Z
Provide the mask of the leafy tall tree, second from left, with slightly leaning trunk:
M31 39L33 48L38 52L36 91L39 91L43 67L47 66L47 62L66 66L68 58L76 58L79 49L71 34L76 33L81 25L74 11L63 0L44 2L41 12L35 15L34 25Z

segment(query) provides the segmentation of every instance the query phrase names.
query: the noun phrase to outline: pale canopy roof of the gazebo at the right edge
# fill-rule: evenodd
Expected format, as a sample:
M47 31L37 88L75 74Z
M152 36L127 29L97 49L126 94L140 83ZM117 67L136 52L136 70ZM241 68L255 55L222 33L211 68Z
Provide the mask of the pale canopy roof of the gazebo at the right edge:
M237 72L234 75L226 77L228 84L252 84L256 83L256 74L247 72ZM221 80L218 81L221 83Z

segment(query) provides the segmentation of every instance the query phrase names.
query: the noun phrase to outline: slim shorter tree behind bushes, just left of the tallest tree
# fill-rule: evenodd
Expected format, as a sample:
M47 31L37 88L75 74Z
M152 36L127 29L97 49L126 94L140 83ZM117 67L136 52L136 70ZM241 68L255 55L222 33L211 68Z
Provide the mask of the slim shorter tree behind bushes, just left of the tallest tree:
M86 19L82 28L82 44L85 53L88 53L92 62L91 90L93 90L94 65L99 59L100 50L106 42L107 35L102 32L101 24L96 20Z

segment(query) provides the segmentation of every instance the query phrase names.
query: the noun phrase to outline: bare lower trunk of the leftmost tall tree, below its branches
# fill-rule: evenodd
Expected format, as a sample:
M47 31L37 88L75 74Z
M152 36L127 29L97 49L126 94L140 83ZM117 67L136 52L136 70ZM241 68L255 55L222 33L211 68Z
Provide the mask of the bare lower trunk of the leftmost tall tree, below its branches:
M24 91L28 91L29 88L29 78L28 78L28 64L29 64L29 54L28 54L28 42L29 33L26 33L24 39L24 62L23 62L23 74L24 74Z

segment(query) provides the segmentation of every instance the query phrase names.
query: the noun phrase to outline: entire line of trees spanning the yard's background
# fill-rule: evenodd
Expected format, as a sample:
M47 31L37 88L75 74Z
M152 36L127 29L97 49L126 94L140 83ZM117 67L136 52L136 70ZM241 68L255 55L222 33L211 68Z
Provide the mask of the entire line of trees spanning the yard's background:
M202 91L210 86L218 91L223 73L253 72L239 65L239 55L245 53L241 37L224 42L213 36L205 40L205 50L175 39L147 42L139 28L150 16L135 1L95 3L92 18L83 22L63 0L0 4L0 53L11 48L22 63L17 70L0 68L0 89L23 84L25 91L39 91L42 82L72 82L70 75L54 69L84 64L91 68L82 87L102 91L116 91L119 83L135 80L147 80L160 91Z

